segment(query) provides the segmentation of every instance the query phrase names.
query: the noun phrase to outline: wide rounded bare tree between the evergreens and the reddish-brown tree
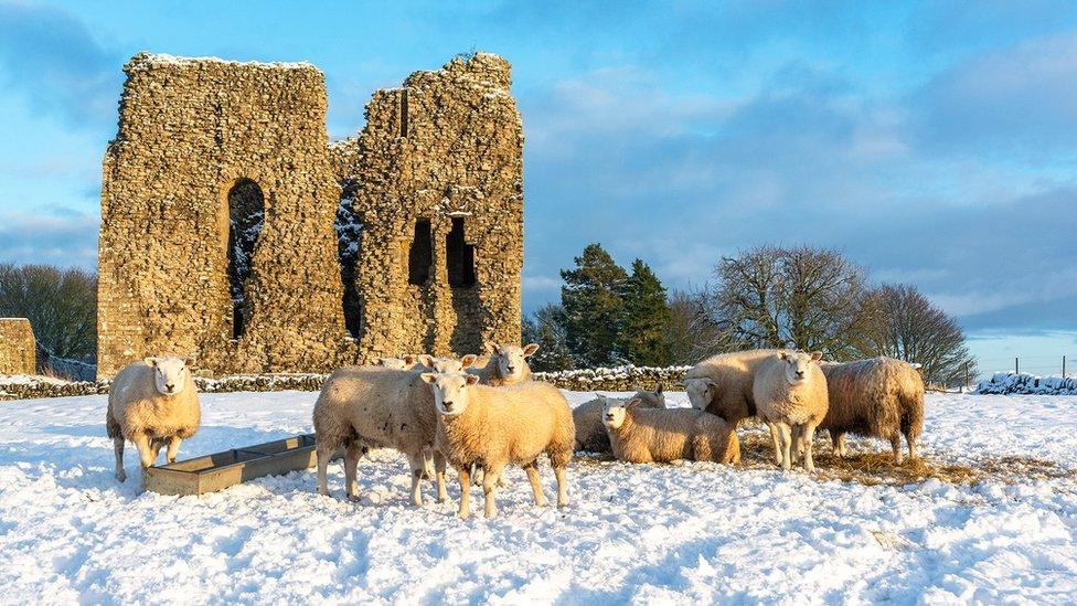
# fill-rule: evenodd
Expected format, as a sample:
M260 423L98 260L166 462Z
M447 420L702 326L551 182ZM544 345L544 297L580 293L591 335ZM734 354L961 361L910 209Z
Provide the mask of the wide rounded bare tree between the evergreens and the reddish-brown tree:
M822 350L846 359L870 316L864 270L836 251L760 246L723 257L705 295L712 349Z

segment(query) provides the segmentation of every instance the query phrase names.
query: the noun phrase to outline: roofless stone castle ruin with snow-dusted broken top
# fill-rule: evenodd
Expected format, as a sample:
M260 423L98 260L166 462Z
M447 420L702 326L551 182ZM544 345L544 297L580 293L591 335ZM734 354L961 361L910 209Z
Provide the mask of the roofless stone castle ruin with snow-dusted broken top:
M139 54L105 155L98 375L328 371L520 340L523 131L491 54L377 91L329 141L309 64Z

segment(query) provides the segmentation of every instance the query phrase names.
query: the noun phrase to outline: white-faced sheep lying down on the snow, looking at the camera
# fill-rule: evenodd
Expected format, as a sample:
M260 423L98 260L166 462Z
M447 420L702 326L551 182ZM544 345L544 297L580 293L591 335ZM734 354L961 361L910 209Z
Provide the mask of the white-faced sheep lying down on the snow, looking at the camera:
M604 398L603 424L618 460L740 463L740 440L732 423L703 411L646 408L642 403L639 397Z

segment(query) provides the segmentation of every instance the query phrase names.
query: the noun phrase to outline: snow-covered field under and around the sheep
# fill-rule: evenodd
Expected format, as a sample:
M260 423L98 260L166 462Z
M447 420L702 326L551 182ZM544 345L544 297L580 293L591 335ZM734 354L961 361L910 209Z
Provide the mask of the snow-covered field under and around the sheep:
M568 394L574 403L589 394ZM314 393L203 395L181 458L310 430ZM671 401L685 404L683 394ZM925 451L1077 467L1077 396L928 396ZM573 504L501 517L408 504L404 459L360 464L362 502L312 470L203 498L113 478L105 396L0 403L0 602L1073 603L1077 482L820 482L712 464L574 464ZM879 445L882 447L882 445ZM547 496L553 478L544 469ZM429 497L430 488L426 488ZM459 489L455 477L449 495Z

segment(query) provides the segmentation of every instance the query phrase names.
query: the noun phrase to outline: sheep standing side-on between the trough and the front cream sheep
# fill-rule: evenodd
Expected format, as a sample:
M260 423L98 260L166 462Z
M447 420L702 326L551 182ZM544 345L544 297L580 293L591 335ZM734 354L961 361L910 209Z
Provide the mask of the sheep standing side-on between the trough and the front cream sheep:
M460 363L426 362L436 366ZM329 459L339 448L344 448L344 492L351 500L359 499L360 457L370 448L393 448L408 459L414 504L423 504L419 482L424 477L439 480L438 502L448 498L444 474L437 471L445 469L445 460L434 451L434 396L420 374L384 366L348 366L326 380L313 411L319 493L329 495Z

